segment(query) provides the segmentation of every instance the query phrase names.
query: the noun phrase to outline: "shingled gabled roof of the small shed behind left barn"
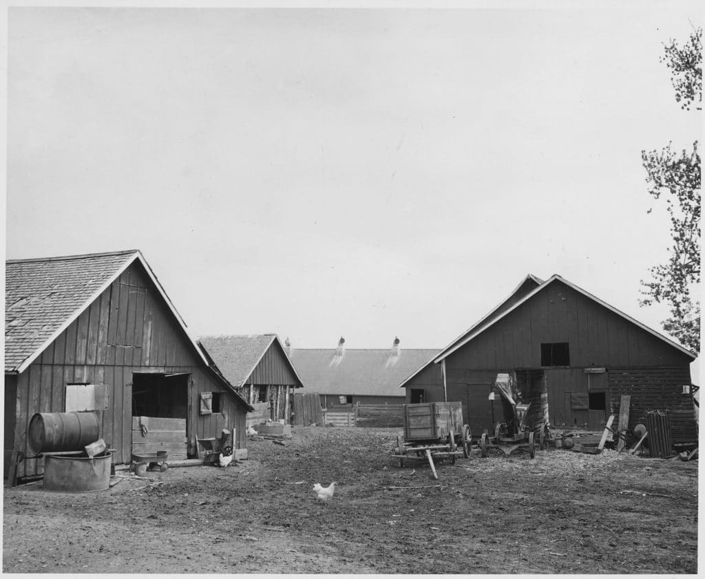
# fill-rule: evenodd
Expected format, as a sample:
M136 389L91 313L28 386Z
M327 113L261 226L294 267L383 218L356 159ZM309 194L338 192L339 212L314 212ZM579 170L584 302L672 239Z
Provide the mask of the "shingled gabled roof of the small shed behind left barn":
M265 352L276 342L281 347L282 355L287 359L299 385L302 385L301 378L288 360L286 349L276 334L201 336L198 342L207 356L216 361L223 376L235 387L245 384L245 380L250 378Z

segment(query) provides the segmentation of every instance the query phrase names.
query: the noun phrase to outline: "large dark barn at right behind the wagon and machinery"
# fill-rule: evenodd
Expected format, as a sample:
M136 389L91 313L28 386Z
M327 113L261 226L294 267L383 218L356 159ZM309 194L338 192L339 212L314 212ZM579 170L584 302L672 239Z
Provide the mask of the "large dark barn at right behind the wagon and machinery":
M673 441L691 442L695 357L559 275L529 275L401 386L410 402L462 401L474 436L503 416L498 373L513 375L553 428L601 430L630 394L629 428L646 424L649 410L668 410Z

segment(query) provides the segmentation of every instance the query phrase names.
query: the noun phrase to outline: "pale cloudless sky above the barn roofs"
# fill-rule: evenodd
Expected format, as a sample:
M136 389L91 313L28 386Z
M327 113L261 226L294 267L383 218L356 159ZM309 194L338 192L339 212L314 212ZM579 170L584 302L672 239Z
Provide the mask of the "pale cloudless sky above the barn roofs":
M441 348L527 273L660 330L640 152L701 137L704 19L620 6L10 8L7 257L141 249L193 335L294 347Z

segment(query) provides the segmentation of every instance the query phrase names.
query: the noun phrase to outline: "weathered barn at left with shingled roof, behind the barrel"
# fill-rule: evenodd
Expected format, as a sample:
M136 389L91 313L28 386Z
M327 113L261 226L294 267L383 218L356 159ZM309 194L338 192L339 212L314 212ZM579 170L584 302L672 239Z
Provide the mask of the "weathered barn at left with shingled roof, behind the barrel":
M115 463L157 449L185 459L223 428L244 449L252 407L189 336L140 251L10 260L5 272L6 466L13 450L31 455L37 412L94 411ZM18 468L40 473L38 459Z

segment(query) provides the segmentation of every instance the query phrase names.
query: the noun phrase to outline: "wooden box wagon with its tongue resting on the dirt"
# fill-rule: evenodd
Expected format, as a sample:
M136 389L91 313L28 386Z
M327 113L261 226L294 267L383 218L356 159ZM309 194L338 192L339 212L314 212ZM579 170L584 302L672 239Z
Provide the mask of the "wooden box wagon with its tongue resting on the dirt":
M397 435L393 458L399 466L407 459L427 460L434 478L434 458L450 459L470 456L472 436L470 426L462 423L461 402L426 402L404 404L404 433Z

